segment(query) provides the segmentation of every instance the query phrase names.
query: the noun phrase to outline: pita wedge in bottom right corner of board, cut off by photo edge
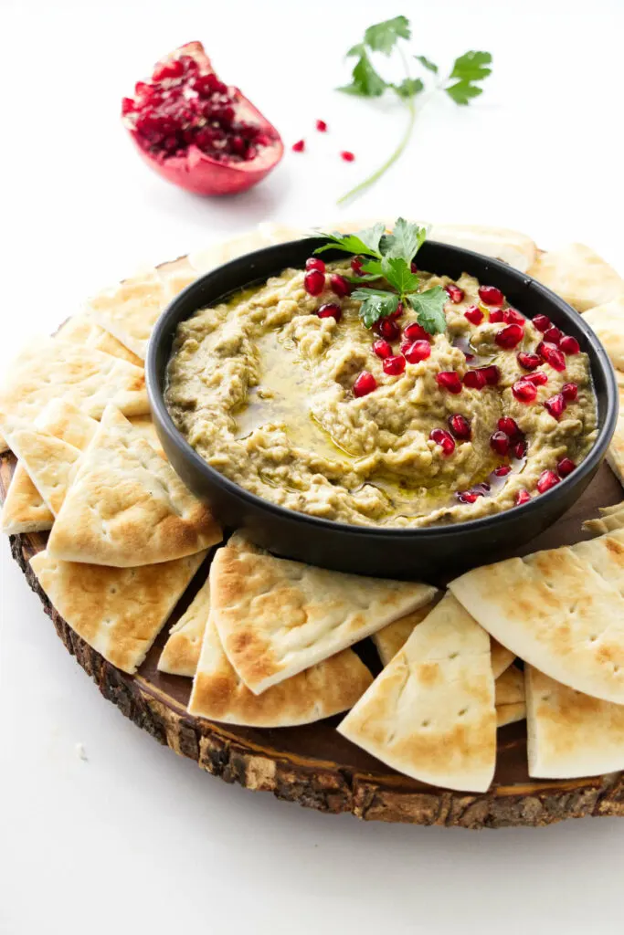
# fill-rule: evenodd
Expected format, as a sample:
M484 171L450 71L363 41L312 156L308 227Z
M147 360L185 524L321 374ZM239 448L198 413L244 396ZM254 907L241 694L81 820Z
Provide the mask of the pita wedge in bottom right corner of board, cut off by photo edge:
M624 770L624 705L525 669L529 775L575 779Z

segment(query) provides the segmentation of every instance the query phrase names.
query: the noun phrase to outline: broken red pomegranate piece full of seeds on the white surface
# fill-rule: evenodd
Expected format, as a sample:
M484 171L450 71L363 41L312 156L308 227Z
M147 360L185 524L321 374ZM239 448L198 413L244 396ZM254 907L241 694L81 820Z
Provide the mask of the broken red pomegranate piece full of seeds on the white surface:
M122 118L145 162L196 194L245 192L283 156L275 127L217 78L200 42L162 58L123 98Z

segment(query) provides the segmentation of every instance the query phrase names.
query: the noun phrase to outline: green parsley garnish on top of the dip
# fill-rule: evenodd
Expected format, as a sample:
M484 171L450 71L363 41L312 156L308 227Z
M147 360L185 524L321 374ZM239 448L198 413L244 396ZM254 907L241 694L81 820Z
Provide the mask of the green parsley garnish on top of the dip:
M427 228L399 218L391 234L385 233L385 224L377 223L356 234L322 234L327 243L315 250L340 250L366 257L362 263L362 276L349 280L363 285L365 282L385 281L389 289L366 286L351 294L362 304L359 315L367 328L380 318L391 315L399 302L414 309L418 324L430 334L444 331L444 305L448 295L442 286L433 286L418 292L420 279L412 272L412 261L427 237Z

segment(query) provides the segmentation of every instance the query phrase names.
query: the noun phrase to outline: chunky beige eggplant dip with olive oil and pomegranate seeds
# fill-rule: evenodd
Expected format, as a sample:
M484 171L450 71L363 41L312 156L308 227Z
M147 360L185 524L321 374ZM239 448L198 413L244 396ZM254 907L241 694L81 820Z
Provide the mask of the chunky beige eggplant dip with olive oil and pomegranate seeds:
M179 324L167 408L212 468L290 510L413 527L508 510L586 457L588 356L544 316L467 274L419 272L449 295L445 331L401 306L369 329L356 267L315 263L316 295L284 269Z

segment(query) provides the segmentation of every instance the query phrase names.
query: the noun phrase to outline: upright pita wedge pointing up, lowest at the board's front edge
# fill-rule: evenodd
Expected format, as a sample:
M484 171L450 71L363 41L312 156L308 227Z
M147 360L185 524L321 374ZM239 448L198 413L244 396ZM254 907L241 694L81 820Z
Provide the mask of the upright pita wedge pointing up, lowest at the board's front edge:
M489 639L447 594L338 726L387 766L485 792L496 765Z

